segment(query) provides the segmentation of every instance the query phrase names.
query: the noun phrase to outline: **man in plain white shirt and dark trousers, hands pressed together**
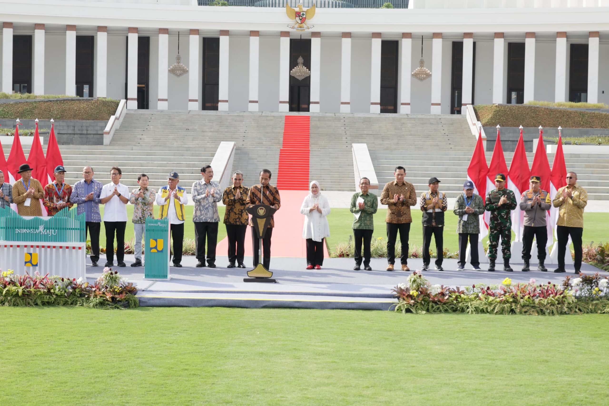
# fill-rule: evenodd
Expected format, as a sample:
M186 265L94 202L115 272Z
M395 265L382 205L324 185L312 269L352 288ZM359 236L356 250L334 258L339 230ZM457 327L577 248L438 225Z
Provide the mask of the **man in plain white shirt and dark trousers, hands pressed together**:
M112 182L104 185L99 195L104 204L104 229L106 230L106 265L114 266L114 233L116 232L116 262L125 266L125 227L127 226L127 203L129 188L123 185L121 168L110 169Z

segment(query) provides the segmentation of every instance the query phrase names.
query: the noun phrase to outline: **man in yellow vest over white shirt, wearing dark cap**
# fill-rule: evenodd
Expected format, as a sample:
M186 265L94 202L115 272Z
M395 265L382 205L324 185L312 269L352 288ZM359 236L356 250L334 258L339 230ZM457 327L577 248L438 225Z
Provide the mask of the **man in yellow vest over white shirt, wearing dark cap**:
M167 177L167 186L163 186L157 193L157 205L159 205L158 217L169 218L169 229L174 240L173 262L176 268L181 268L182 243L184 240L184 206L188 204L186 189L179 187L180 176L172 172Z

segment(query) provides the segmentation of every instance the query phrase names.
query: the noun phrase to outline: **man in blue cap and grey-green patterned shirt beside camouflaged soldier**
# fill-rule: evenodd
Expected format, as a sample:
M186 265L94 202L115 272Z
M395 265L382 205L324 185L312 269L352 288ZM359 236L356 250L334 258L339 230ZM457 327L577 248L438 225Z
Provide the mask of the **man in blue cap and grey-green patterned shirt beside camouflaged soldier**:
M471 266L474 271L480 271L478 258L478 236L480 234L480 215L484 214L484 202L479 194L474 193L474 182L467 180L463 183L463 194L459 194L452 210L457 216L457 233L459 234L459 267L465 269L465 253L467 240L470 240Z

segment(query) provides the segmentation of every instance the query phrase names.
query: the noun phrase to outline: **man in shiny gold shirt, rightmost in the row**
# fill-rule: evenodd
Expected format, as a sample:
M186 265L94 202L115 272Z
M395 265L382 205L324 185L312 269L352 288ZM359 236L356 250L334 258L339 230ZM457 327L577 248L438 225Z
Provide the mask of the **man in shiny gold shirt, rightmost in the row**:
M569 172L566 181L567 185L558 189L552 201L554 207L560 207L556 221L558 268L554 272L565 272L565 253L570 236L575 251L573 265L575 273L579 274L582 268L583 209L588 204L588 192L577 184L575 172Z

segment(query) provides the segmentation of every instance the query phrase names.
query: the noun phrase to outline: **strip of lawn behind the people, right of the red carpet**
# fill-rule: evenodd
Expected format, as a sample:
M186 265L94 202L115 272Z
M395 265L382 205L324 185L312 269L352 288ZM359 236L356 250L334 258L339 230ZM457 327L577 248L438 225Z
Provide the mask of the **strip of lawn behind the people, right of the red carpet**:
M423 227L421 226L421 211L412 210L412 225L410 226L409 244L416 245L420 248L423 245ZM376 212L375 233L374 237L382 237L387 239L387 231L385 227L386 208L379 208ZM445 230L444 230L444 248L448 248L450 252L459 249L459 235L457 235L457 219L458 216L452 213L452 210L447 210L445 215ZM330 237L328 241L328 249L331 249L339 243L346 243L349 236L353 234L351 224L353 224L353 214L348 208L333 208L328 215L328 223L330 226ZM609 237L607 228L609 227L609 213L583 213L583 243L588 244L590 241L595 243L608 242ZM514 233L512 232L512 238ZM399 236L398 236L399 238ZM482 240L487 243L488 237ZM572 247L572 246L571 246ZM435 245L432 242L432 249L435 251Z

